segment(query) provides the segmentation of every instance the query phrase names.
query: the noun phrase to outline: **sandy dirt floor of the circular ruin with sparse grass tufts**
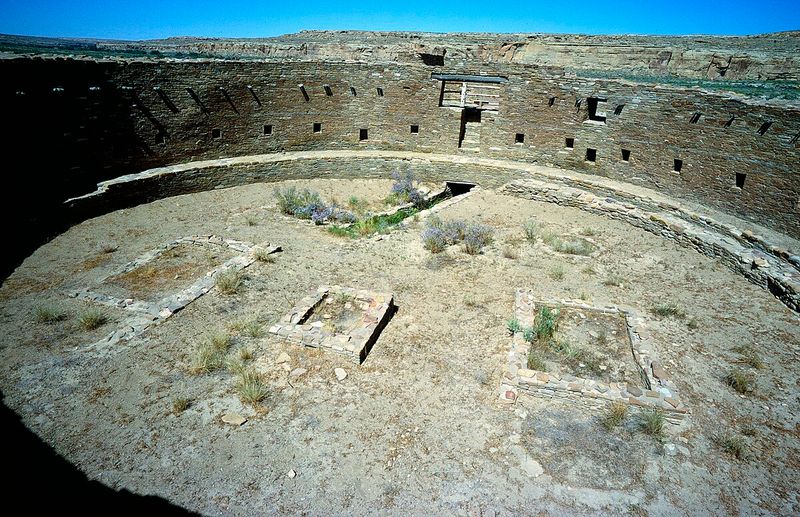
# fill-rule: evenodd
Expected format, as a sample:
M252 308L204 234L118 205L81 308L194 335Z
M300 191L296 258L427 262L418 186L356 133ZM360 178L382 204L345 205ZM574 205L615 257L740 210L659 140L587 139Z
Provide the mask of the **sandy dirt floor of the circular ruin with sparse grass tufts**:
M377 206L391 181L289 184ZM273 188L120 210L37 250L0 289L6 404L91 478L212 515L800 513L800 327L767 291L622 222L490 190L439 215L493 227L494 243L480 255L459 246L433 255L420 239L424 220L380 237L337 237L281 215ZM522 229L531 219L560 235L591 233L599 251L531 244ZM234 294L212 289L131 342L89 346L125 311L103 308L108 321L85 330L88 302L65 290L101 289L98 279L143 253L206 234L283 251L245 269ZM394 293L398 306L360 366L267 333L308 292L336 284ZM668 424L658 440L634 415L607 430L599 414L566 401L501 403L517 288L644 315L687 422ZM684 314L651 312L663 303ZM37 321L45 305L64 317ZM251 351L266 379L256 407L240 401L233 373L190 373L197 348L220 333L232 336L231 354ZM763 367L742 363L740 346ZM753 376L753 392L725 384L732 368ZM179 399L189 401L184 411L173 409ZM226 413L247 422L224 423ZM726 436L740 437L749 457L726 451Z

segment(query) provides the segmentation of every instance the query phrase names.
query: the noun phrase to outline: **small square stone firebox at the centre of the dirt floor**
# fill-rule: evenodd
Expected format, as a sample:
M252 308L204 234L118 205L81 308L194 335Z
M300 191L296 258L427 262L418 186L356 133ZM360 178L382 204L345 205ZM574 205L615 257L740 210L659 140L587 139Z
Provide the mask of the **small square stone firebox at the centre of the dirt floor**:
M298 301L269 332L361 364L394 311L394 297L389 293L323 286Z

